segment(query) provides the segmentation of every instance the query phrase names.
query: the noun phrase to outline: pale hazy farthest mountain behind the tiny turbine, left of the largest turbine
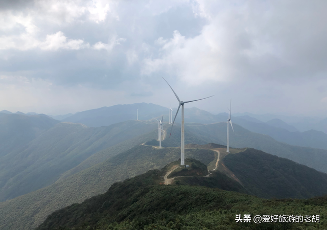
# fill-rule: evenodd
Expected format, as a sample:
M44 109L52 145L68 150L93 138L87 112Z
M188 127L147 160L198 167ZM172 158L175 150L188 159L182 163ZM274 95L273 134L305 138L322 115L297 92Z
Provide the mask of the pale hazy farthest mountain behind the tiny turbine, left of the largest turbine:
M168 118L169 109L166 107L152 103L135 103L82 111L62 121L82 123L89 127L108 126L127 120L136 120L137 109L138 120L150 120L152 117L158 117L164 113L167 113Z

